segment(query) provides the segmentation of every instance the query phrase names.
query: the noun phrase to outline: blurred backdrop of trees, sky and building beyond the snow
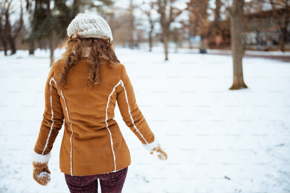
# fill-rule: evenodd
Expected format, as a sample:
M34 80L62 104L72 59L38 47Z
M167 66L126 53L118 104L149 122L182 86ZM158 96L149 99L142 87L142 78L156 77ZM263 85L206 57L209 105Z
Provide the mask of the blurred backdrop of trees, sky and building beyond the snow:
M0 3L0 50L53 50L66 36L68 24L78 13L98 14L110 25L117 45L151 51L162 46L231 49L231 21L246 50L289 51L290 5L287 0L236 1L94 1L3 0ZM237 17L235 14L241 14ZM51 56L52 57L52 56Z

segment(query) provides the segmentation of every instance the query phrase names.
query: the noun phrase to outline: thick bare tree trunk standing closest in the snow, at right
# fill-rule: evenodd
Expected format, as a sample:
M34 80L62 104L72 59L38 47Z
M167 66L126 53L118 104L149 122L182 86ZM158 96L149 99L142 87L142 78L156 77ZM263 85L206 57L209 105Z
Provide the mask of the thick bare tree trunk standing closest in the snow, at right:
M243 7L239 6L243 4L243 0L233 1L233 10L231 19L231 47L233 55L233 85L230 90L247 88L247 85L244 83L243 78L243 45L242 45L242 36L240 32L242 31L242 16L243 16Z

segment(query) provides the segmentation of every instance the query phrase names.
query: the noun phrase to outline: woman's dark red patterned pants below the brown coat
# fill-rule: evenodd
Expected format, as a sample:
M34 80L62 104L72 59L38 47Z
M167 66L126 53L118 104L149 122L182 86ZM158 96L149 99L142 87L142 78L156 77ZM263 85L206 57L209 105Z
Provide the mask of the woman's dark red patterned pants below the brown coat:
M66 184L71 193L97 193L98 179L102 193L119 193L127 176L128 167L108 174L96 174L91 176L71 176L64 174Z

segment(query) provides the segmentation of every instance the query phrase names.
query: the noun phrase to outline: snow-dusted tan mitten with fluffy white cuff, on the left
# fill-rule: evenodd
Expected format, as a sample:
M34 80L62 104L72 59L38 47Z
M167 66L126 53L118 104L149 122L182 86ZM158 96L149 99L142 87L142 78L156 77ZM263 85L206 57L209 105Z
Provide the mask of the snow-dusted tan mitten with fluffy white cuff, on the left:
M50 153L47 155L40 155L35 152L32 157L34 158L32 161L33 179L40 185L45 186L50 181L50 171L48 169Z

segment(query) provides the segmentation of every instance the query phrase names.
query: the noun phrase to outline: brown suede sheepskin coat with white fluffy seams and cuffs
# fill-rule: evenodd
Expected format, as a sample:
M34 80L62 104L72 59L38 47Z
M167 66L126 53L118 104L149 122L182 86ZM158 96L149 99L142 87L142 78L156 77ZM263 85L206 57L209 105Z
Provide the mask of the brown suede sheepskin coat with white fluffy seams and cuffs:
M60 61L61 62L61 61ZM45 110L34 151L50 156L53 142L64 122L60 149L61 172L76 176L114 172L131 163L130 153L114 118L117 104L126 125L148 150L158 146L139 110L133 87L122 64L108 67L101 60L99 85L86 84L86 58L73 65L66 86L58 89L59 65L53 65L45 87ZM36 160L37 161L37 160Z

